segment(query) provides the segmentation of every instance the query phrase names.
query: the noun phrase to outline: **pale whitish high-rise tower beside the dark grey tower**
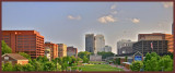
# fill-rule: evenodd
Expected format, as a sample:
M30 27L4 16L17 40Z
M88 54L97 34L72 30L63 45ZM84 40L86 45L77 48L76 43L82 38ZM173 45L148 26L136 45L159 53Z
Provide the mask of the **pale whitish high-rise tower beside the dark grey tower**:
M105 51L104 47L105 47L104 36L103 35L96 35L95 36L95 50L96 50L96 52L97 51L100 51L100 52Z

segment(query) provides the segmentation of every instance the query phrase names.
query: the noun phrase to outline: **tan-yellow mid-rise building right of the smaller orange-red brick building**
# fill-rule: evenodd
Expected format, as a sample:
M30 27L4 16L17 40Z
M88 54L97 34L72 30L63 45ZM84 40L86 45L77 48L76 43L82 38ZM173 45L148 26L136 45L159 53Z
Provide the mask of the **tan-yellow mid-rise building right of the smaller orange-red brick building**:
M67 45L58 44L58 57L67 57Z

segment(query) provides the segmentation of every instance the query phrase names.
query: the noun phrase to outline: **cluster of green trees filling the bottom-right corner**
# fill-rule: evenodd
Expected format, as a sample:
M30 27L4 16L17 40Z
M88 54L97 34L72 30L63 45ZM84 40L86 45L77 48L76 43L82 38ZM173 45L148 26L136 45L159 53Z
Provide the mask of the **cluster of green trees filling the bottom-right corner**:
M173 71L173 53L160 57L155 52L147 53L143 61L135 61L132 71Z

